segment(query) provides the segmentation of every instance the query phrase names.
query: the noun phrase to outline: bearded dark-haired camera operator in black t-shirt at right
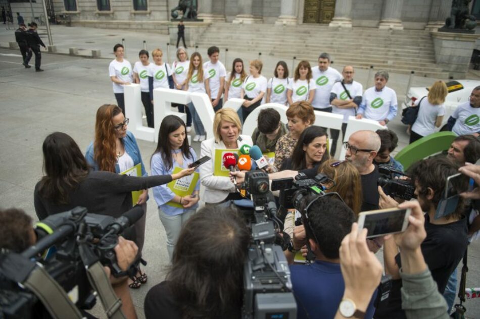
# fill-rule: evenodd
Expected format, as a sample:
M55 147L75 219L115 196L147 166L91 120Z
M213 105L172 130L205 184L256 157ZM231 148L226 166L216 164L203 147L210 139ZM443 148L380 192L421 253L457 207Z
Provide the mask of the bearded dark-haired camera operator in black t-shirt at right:
M458 166L452 164L447 158L429 158L417 163L410 172L415 184L415 195L421 209L426 212L427 235L421 244L421 250L440 293L444 292L448 279L462 259L468 243L462 199L459 199L454 212L435 219L439 203L445 193L447 178L458 173L457 169ZM467 189L467 179L463 176L452 178L451 185L449 197ZM378 191L381 208L396 206L396 202L385 195L380 187ZM389 301L376 309L375 318L404 318L405 312L401 309L402 283L399 274L402 259L393 238L385 241L383 258L386 273L390 274L394 280Z

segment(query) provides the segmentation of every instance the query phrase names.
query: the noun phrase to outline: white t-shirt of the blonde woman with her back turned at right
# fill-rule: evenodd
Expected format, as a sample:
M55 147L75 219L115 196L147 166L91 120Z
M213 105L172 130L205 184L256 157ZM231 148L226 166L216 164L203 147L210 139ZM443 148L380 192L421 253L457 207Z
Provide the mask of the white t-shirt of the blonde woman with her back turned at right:
M419 98L415 101L418 103L422 101L415 123L412 125L412 131L421 136L427 136L435 132L435 121L437 117L445 115L445 105L432 105L428 102L428 97Z

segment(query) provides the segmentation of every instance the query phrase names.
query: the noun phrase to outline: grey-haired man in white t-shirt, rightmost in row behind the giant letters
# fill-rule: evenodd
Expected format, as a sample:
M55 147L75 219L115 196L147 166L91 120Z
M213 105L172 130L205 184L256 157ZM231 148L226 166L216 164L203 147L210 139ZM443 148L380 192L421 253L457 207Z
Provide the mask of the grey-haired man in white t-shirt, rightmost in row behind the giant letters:
M378 71L375 73L375 86L363 93L363 99L357 111L357 119L378 121L380 125L387 125L397 116L397 93L387 87L389 73Z

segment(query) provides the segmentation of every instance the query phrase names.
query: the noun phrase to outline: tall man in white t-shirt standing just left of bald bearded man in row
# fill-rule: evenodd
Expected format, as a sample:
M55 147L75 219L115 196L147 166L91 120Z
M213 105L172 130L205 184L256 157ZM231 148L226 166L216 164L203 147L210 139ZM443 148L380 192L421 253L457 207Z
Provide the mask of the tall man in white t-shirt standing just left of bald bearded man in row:
M318 58L318 68L312 68L313 81L317 86L312 106L315 110L331 112L330 92L335 82L342 81L339 71L330 67L330 55L323 52Z

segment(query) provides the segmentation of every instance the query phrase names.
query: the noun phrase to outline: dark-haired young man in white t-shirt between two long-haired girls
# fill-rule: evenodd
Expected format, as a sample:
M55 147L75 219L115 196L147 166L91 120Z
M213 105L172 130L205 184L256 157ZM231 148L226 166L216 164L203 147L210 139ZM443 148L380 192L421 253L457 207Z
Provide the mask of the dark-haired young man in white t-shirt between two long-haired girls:
M222 94L225 84L225 76L227 71L223 64L219 61L220 49L216 46L211 46L207 50L209 62L204 63L203 67L206 69L205 74L205 88L207 94L212 100L212 107L215 112L220 110L223 105Z

